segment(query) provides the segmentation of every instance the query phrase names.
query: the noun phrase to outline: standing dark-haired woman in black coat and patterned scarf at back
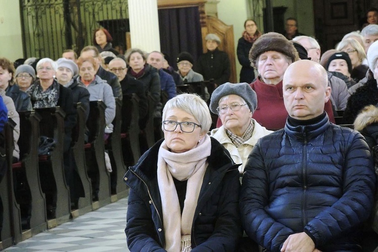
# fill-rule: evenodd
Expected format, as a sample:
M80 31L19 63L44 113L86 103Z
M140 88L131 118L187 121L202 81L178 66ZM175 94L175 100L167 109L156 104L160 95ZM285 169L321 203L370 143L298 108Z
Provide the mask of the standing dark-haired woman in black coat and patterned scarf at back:
M237 42L237 59L241 65L240 82L252 83L255 80L255 71L250 65L248 55L256 39L261 36L261 32L253 19L245 20L244 28L245 30Z

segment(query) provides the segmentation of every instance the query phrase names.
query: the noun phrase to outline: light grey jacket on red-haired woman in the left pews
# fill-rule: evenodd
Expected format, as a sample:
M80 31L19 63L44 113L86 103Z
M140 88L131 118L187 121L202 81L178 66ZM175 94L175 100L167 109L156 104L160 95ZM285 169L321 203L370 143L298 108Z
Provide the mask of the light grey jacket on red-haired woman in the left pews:
M81 81L81 77L78 77L77 82L80 86L86 87ZM111 124L111 122L115 117L115 99L113 96L113 90L105 80L102 80L97 75L91 84L89 84L86 88L90 94L89 101L102 100L105 103L105 133L112 133L113 124Z

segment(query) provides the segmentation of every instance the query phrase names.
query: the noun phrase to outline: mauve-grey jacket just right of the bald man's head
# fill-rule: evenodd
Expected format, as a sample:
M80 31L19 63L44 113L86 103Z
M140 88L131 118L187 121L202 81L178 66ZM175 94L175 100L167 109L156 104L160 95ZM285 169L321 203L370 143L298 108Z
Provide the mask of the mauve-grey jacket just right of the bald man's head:
M343 80L328 74L328 86L331 87L331 102L336 110L344 110L348 102L348 88Z

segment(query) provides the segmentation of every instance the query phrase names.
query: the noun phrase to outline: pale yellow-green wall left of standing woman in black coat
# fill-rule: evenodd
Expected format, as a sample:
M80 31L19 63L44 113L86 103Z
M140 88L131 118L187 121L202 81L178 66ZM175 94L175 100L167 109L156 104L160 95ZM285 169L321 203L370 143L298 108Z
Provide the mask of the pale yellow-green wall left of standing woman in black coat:
M235 43L236 76L239 81L241 65L237 60L237 41L244 31L244 21L251 15L247 10L246 0L220 0L218 4L218 18L227 25L233 25Z

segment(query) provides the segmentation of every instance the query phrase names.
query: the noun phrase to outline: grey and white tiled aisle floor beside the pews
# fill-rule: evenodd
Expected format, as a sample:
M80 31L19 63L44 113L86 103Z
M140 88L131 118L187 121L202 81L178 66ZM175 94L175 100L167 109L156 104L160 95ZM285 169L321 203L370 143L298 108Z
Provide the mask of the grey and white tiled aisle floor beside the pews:
M127 206L127 198L121 199L36 234L4 251L129 251L124 234Z

